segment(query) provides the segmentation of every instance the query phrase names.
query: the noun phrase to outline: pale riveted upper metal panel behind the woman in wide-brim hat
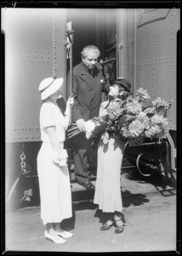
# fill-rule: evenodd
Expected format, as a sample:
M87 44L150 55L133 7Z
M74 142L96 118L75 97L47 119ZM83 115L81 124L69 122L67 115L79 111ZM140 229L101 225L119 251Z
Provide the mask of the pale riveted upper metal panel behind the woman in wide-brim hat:
M54 75L66 78L66 11L3 9L2 14L6 142L40 141L38 85Z

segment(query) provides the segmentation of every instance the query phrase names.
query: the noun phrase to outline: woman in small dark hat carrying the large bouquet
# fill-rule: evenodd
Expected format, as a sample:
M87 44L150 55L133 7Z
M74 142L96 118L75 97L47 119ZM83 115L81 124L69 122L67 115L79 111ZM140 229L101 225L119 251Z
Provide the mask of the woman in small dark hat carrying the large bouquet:
M130 94L131 84L126 79L118 78L110 87L111 101L102 102L100 116L107 113L107 108L116 102L125 100ZM108 219L100 230L109 230L115 225L115 233L122 233L125 223L122 214L122 195L120 174L125 142L119 133L110 133L108 143L102 137L98 144L98 166L95 184L94 204L102 212L107 212Z

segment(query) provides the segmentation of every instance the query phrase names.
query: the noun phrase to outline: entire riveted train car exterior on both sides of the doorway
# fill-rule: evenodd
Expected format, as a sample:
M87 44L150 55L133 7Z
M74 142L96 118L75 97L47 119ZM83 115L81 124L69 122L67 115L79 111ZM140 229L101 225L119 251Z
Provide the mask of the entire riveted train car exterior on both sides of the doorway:
M174 161L179 9L85 10L82 26L82 20L77 19L81 12L82 9L3 9L7 203L20 202L24 192L37 183L36 160L41 145L38 85L46 77L63 77L64 99L68 97L65 41L69 21L74 30L73 64L80 61L85 44L96 44L102 59L108 61L103 72L110 82L122 76L133 84L133 93L142 87L150 93L151 100L157 96L167 102L173 99L168 121L173 150L170 157ZM89 23L91 15L94 25ZM60 108L65 108L64 101Z

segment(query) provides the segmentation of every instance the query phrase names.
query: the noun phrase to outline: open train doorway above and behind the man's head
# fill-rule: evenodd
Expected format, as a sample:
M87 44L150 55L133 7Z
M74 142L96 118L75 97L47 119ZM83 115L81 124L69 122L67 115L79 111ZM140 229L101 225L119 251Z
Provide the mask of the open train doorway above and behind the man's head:
M116 79L116 20L116 9L67 10L67 21L71 21L74 31L73 67L81 61L82 49L94 44L100 49L100 60L107 61L102 65L105 79L110 82Z

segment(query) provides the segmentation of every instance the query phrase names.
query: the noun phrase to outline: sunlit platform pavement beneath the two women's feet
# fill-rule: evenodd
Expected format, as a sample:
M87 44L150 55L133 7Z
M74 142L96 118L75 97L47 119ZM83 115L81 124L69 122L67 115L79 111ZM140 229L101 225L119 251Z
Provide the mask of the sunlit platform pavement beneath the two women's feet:
M122 172L121 184L123 214L126 219L122 234L116 235L114 227L104 233L100 231L100 211L92 199L83 202L73 201L73 217L65 219L62 228L71 230L74 236L64 245L57 245L47 241L43 236L45 227L40 218L40 206L24 207L6 215L7 250L16 251L19 255L19 251L123 253L175 249L176 196L172 184L156 183L156 180L154 183L146 183L138 177L134 169ZM79 185L72 185L72 189L75 189L72 195L79 192L87 195L87 199L94 195L94 191L82 187L78 187L76 192Z

